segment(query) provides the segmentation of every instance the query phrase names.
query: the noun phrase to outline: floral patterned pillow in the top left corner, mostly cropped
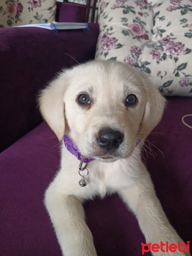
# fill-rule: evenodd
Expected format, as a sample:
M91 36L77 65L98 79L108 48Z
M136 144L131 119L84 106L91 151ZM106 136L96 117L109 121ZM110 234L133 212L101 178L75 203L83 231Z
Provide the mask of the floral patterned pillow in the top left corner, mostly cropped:
M0 0L0 28L55 20L56 0Z

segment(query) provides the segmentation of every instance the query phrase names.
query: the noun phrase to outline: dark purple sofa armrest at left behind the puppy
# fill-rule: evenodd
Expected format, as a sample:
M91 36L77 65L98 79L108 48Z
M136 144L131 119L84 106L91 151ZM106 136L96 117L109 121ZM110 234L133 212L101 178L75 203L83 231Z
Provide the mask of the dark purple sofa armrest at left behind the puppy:
M58 33L41 28L0 29L0 151L42 121L38 91L57 71L76 64L73 58L79 63L94 58L99 26L90 23L89 27Z

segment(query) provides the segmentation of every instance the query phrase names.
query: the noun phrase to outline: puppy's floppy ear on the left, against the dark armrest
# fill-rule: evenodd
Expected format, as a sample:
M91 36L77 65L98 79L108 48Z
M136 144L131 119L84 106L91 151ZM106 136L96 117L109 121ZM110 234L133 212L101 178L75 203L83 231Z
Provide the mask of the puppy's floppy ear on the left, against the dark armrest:
M62 140L65 130L64 93L68 87L65 73L53 80L38 97L41 114L58 140Z

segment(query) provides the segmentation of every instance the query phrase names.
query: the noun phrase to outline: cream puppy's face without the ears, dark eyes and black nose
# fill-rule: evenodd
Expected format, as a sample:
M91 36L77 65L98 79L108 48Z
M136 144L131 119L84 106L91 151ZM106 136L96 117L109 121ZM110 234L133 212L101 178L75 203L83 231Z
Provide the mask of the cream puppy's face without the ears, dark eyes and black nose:
M138 74L110 64L74 69L64 96L68 132L81 154L108 161L133 151L146 102Z

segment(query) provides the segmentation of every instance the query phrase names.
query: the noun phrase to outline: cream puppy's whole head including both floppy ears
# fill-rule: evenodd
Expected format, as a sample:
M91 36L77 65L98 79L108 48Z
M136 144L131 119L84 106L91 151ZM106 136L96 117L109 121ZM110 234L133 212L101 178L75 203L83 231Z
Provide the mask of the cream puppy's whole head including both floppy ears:
M143 73L115 61L91 61L61 73L41 92L40 110L59 140L85 157L127 158L160 121L165 99Z

